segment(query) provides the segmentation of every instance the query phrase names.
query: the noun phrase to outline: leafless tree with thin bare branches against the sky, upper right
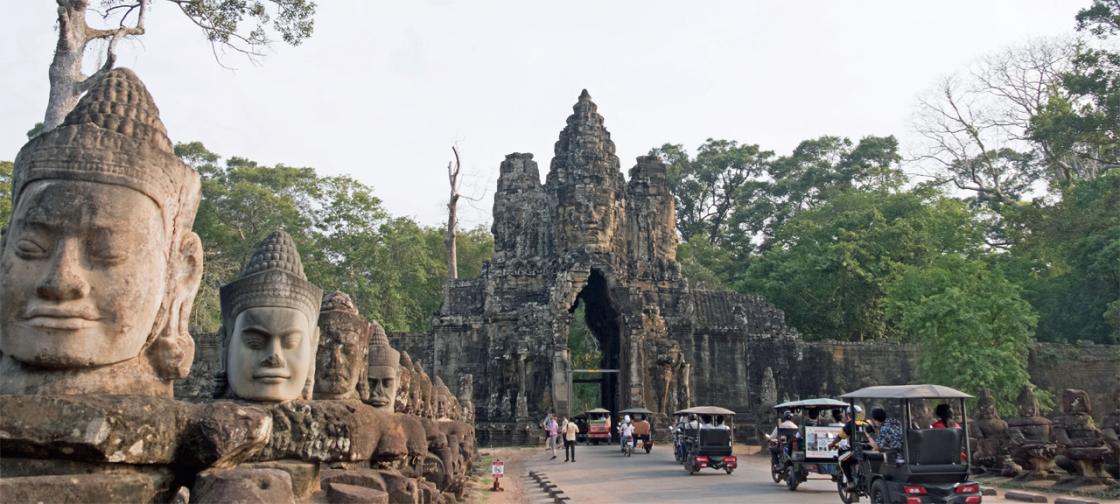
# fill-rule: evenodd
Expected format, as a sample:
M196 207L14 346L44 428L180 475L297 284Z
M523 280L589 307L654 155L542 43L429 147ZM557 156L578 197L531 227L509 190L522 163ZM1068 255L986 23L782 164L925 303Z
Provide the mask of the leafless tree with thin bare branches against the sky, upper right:
M1028 131L1032 118L1061 96L1055 83L1075 47L1067 40L1034 40L942 81L918 101L915 129L926 144L917 160L930 161L937 179L997 212L1044 176L1055 187L1066 184L1075 161Z

